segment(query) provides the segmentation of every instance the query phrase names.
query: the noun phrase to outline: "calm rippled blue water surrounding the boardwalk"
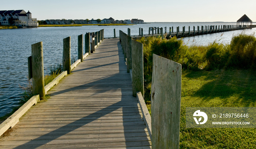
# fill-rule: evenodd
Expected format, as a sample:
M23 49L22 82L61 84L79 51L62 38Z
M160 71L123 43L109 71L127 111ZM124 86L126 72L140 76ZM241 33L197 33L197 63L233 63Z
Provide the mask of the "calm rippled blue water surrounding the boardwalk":
M49 72L50 65L60 63L63 52L63 39L71 37L71 55L77 57L78 35L87 32L95 32L104 29L105 37L114 37L113 30L116 28L116 36L119 30L127 33L127 28L131 28L131 35L138 35L139 28L143 28L143 33L148 34L149 27L169 27L185 26L205 26L205 25L234 25L235 23L150 23L137 24L133 26L82 26L82 27L41 27L22 28L13 30L0 30L0 116L11 111L12 107L18 104L18 98L23 91L19 85L26 86L27 83L27 57L31 55L31 45L43 42L44 68L45 73ZM256 28L244 30L245 34L252 34ZM207 45L213 41L229 43L233 35L241 33L242 30L230 31L215 34L200 35L184 38L187 45Z

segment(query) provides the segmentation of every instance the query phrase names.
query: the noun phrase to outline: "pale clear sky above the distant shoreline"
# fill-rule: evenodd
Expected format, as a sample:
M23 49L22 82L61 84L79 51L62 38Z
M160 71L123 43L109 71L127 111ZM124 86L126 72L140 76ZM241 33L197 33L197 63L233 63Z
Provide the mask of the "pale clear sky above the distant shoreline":
M32 13L32 18L138 18L144 22L236 22L246 14L256 22L256 0L1 0L1 10Z

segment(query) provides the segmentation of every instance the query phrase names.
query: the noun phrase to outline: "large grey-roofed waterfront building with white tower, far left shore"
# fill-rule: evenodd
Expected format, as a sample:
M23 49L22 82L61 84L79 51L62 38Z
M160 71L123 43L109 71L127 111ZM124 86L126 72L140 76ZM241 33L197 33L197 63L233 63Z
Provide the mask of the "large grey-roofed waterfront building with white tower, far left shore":
M9 19L12 19L10 24ZM1 25L16 25L26 27L38 26L37 19L32 18L31 12L24 10L1 10L0 11L0 24Z

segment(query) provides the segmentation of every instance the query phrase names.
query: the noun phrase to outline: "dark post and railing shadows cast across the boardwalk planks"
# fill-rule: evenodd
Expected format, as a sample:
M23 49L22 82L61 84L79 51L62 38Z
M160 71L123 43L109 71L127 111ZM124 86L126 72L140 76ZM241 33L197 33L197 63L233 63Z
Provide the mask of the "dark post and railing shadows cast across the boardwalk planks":
M98 110L92 114L89 114L89 115L86 115L74 122L71 122L65 126L62 126L54 131L51 131L45 135L42 135L38 138L35 138L34 140L31 140L23 145L20 145L18 147L16 147L15 149L18 149L18 148L42 148L42 147L45 147L45 148L53 148L54 147L54 143L52 141L58 139L59 137L63 136L63 135L66 135L68 134L69 132L71 131L74 131L76 129L79 129L80 127L86 127L85 125L97 120L97 119L100 119L102 116L105 116L107 114L110 114L111 112L119 109L119 108L123 108L123 120L125 119L130 119L131 117L129 117L129 114L127 115L127 113L124 113L124 111L127 111L127 110L130 110L130 107L129 106L134 106L134 105L137 105L138 102L133 102L133 100L131 101L128 101L127 100L127 97L129 97L129 92L127 92L127 86L123 85L122 87L116 85L116 84L120 84L120 83L124 83L124 82L127 82L127 80L120 80L120 79L116 79L118 77L120 77L120 75L123 75L124 73L124 69L121 70L121 68L125 65L125 62L124 62L124 57L123 57L123 54L122 54L122 49L121 49L121 46L120 46L120 43L118 42L118 55L119 55L119 62L114 62L114 63L110 63L110 64L106 64L106 65L112 65L112 64L117 64L119 65L119 73L116 73L114 75L110 75L110 76L107 76L107 77L103 77L102 79L99 79L99 80L95 80L91 83L87 83L87 84L83 84L83 85L80 85L78 87L73 87L73 88L70 88L70 89L65 89L63 91L59 91L59 92L54 92L53 95L59 95L60 93L68 93L69 91L78 91L78 90L81 90L81 88L83 89L87 89L87 88L91 88L91 89L95 89L96 92L108 92L109 90L104 88L104 83L102 82L108 82L108 86L112 86L110 91L120 91L121 90L121 100L120 101L117 101L116 103L110 105L110 106L107 106L105 108L102 108L101 110ZM101 65L101 66L105 66L105 65ZM97 67L101 67L101 66L97 66ZM94 68L97 68L97 67L94 67ZM89 69L83 69L83 70L89 70ZM77 71L82 71L82 70L75 70L74 72L77 72ZM89 70L90 71L90 70ZM122 74L123 73L123 74ZM115 80L116 81L113 81ZM130 79L130 78L129 78ZM130 83L131 83L131 79L129 80ZM130 85L131 86L131 85ZM99 87L102 87L102 89L99 89ZM95 92L95 94L96 94ZM131 99L133 98L132 97L132 94L131 94ZM84 100L86 100L86 98L84 98ZM95 99L97 100L97 99ZM138 113L137 116L140 121L135 121L136 118L134 118L134 121L132 119L130 119L131 121L129 122L123 122L123 127L124 127L124 137L125 137L125 143L123 141L123 144L125 144L126 146L144 146L143 148L150 148L150 144L148 142L148 137L145 133L145 135L142 135L140 137L137 137L137 136L132 136L132 133L131 132L134 132L136 130L138 130L136 128L136 126L131 126L131 123L133 123L134 125L139 125L140 129L146 129L146 125L144 125L144 122L142 121L142 119L140 118L140 114L139 114L139 109L136 108L135 111L133 112L136 112ZM136 117L136 116L135 116ZM86 121L84 121L86 120ZM58 132L58 133L57 133ZM141 131L142 132L142 131ZM56 133L58 134L56 136ZM54 137L52 137L54 136ZM47 138L47 139L45 139ZM82 138L81 138L82 139ZM117 140L117 141L116 141ZM63 144L58 144L58 146L56 148L67 148L68 146L73 146L74 148L76 148L76 144L82 144L83 148L97 148L99 147L100 145L105 145L104 147L107 147L107 146L110 146L110 145L116 145L115 147L118 148L120 147L120 144L122 144L122 142L118 142L118 138L113 139L113 144L110 143L109 141L108 142L100 142L100 140L97 140L97 138L95 138L95 142L94 144L86 144L84 143L83 141L81 142L67 142L67 143L63 143ZM86 141L86 139L84 139L84 141ZM119 144L119 145L118 145ZM72 147L71 147L72 148Z

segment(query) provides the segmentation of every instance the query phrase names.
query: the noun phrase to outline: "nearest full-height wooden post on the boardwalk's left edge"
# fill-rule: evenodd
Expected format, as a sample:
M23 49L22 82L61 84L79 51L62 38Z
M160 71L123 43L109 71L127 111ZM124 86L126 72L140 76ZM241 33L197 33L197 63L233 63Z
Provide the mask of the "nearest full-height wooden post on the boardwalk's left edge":
M45 98L43 42L31 45L33 94Z

